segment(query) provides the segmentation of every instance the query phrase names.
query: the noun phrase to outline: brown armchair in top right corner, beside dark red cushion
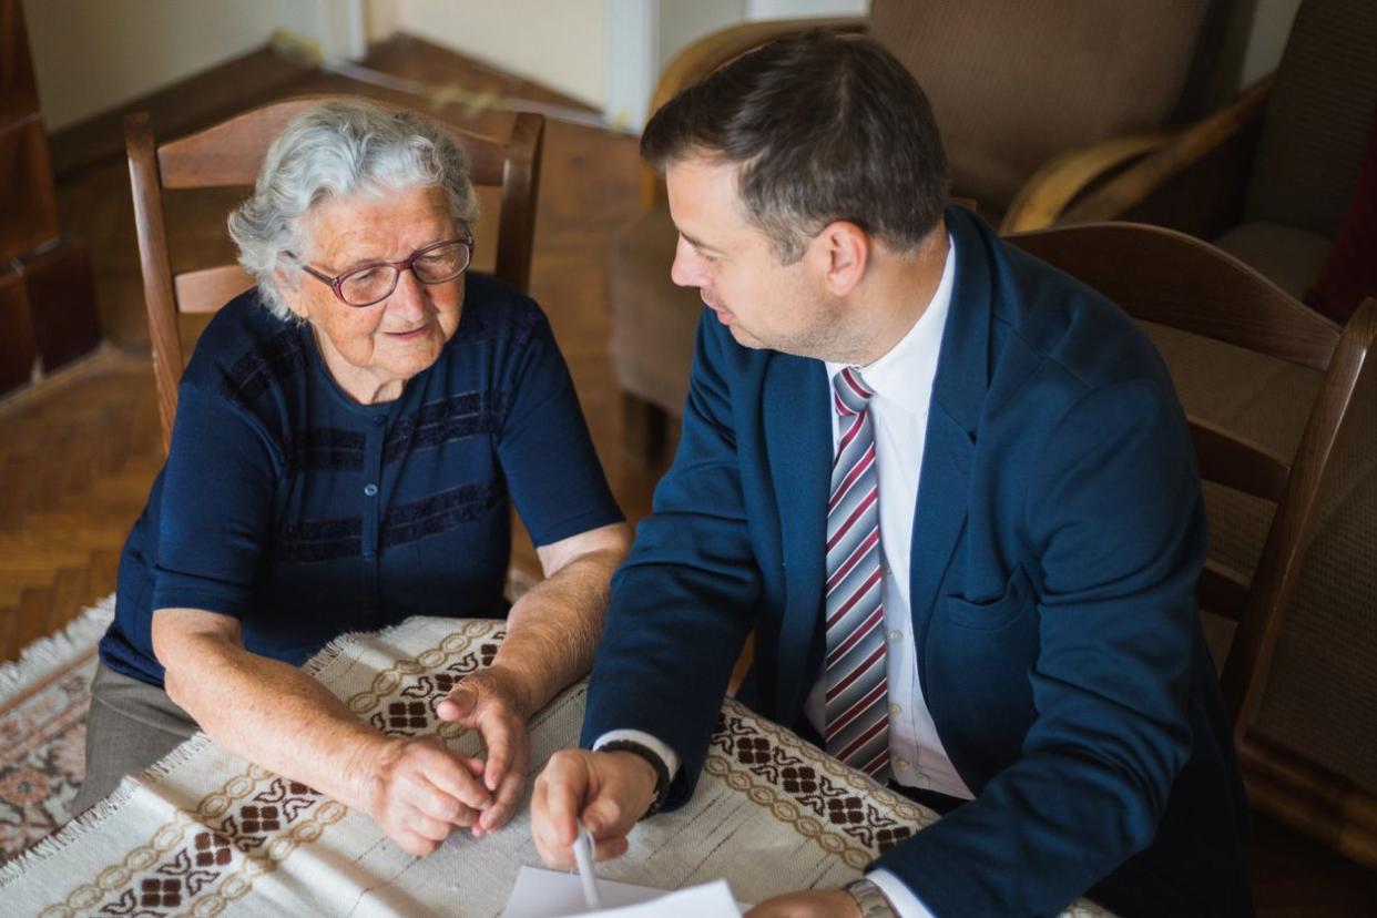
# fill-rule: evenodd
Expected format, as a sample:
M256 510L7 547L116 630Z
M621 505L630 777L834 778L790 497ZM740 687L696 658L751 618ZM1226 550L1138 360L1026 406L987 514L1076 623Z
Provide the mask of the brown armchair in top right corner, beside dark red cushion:
M1276 73L1071 205L1210 239L1294 297L1315 281L1377 114L1377 3L1304 0Z

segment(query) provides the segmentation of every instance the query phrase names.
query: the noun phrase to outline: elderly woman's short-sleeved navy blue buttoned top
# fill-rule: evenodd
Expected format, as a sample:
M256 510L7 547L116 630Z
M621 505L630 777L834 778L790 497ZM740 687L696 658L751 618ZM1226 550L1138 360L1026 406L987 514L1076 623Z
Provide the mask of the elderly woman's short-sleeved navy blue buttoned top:
M289 663L408 615L501 617L508 497L537 545L621 519L540 307L465 284L441 356L384 405L348 398L311 326L255 292L216 314L124 546L106 665L162 683L157 608L233 615Z

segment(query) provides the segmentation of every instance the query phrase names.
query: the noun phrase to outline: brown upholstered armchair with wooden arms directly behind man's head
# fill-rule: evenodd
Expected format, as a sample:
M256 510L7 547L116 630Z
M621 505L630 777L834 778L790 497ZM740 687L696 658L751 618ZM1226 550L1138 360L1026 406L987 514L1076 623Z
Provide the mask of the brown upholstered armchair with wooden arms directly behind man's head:
M874 0L870 18L753 22L690 45L661 76L651 109L731 58L781 34L868 32L924 87L947 146L953 193L993 223L1042 226L1084 187L1166 142L1194 114L1230 0ZM1129 136L1128 140L1124 138ZM1086 147L1089 147L1086 150ZM1019 189L1067 154L1055 189ZM1074 187L1069 175L1078 176ZM675 230L664 183L646 171L646 213L609 264L611 356L632 449L654 457L687 391L695 290L669 282Z

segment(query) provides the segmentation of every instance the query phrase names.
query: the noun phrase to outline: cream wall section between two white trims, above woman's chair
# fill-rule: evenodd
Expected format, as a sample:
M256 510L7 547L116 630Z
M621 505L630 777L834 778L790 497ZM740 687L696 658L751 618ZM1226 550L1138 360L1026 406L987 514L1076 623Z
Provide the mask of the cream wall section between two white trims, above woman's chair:
M605 0L372 0L372 32L392 28L536 80L602 110Z

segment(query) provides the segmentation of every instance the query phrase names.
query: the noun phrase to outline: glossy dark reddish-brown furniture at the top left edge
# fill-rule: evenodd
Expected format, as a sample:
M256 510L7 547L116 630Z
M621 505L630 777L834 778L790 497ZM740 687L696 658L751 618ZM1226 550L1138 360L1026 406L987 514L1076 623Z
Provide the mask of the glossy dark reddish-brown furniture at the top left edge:
M23 8L0 0L0 392L99 343L85 245L58 226Z

